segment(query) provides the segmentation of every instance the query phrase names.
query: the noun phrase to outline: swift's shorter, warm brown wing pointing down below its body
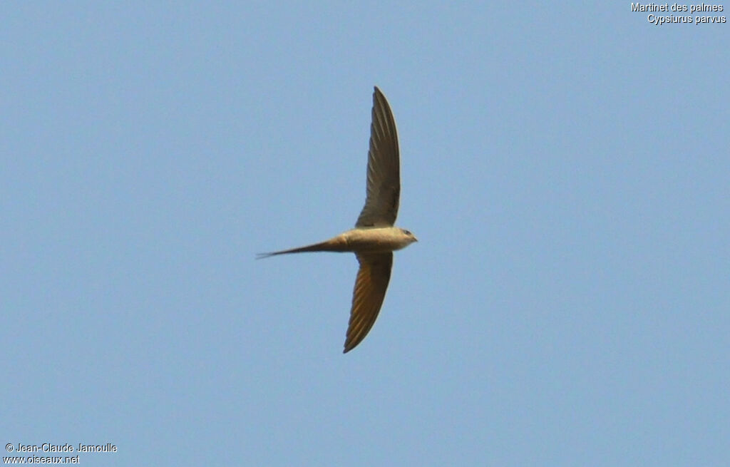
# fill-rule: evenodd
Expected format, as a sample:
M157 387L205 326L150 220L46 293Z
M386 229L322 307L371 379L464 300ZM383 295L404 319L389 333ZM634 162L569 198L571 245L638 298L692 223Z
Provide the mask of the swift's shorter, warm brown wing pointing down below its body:
M347 326L345 353L353 350L365 339L372 328L380 306L383 305L385 290L391 280L393 253L357 254L360 262L358 277L353 291L353 309Z

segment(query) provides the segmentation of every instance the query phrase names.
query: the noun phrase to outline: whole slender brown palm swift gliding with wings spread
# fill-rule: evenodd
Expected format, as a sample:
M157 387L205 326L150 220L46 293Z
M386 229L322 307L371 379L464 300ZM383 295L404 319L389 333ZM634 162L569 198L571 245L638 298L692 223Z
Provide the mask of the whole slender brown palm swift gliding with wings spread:
M396 121L388 101L376 86L372 94L365 206L355 228L325 242L259 255L266 258L311 251L355 253L360 269L353 290L345 353L360 344L375 323L391 279L393 251L418 242L409 231L393 226L401 193L398 153Z

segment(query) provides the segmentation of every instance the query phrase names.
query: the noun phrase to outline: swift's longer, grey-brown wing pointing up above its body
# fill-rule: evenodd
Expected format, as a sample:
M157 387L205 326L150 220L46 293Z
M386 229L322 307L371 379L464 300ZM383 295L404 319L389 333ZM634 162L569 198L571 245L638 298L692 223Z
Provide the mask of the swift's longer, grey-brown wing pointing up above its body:
M356 227L386 227L396 222L401 195L398 133L393 112L380 89L372 93L367 198Z

